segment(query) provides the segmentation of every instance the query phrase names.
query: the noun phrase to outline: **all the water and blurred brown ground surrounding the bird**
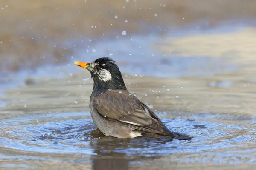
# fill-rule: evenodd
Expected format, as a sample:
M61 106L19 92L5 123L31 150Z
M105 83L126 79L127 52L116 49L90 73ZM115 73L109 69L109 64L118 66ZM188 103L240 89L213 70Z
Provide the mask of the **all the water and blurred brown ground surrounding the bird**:
M250 169L255 7L255 0L1 0L0 168L113 169L122 158L117 168ZM93 136L92 80L73 63L99 57L117 61L128 90L168 127L196 138Z

